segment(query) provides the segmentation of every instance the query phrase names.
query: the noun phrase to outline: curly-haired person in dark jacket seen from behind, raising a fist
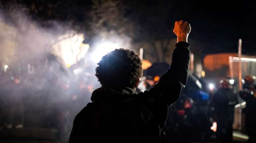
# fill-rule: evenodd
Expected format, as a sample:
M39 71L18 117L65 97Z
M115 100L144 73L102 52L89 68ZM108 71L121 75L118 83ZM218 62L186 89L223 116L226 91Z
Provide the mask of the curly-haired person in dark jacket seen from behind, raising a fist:
M179 99L188 78L190 30L189 23L175 22L177 44L170 69L144 93L135 92L142 76L137 54L116 49L105 55L96 68L102 87L75 117L69 143L162 142L168 107Z

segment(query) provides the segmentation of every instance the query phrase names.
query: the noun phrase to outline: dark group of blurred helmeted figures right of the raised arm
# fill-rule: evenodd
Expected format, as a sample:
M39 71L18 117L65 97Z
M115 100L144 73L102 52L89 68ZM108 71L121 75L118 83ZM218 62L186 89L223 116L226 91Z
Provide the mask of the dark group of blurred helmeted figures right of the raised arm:
M247 142L255 142L256 88L254 76L244 78L243 89L239 92L236 92L228 79L221 80L205 106L200 106L196 99L181 95L180 99L169 108L165 126L165 131L169 134L168 141L233 142L235 105L238 104L238 98L246 102L242 114L245 114L246 134L249 136Z

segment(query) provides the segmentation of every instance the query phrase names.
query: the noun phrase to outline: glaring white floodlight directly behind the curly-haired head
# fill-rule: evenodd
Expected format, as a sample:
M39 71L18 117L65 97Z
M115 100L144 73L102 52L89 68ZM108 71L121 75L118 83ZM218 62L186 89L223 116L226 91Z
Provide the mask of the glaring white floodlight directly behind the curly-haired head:
M92 53L91 57L93 61L98 63L103 56L105 56L107 53L119 49L120 47L112 42L103 42L96 46L95 51Z

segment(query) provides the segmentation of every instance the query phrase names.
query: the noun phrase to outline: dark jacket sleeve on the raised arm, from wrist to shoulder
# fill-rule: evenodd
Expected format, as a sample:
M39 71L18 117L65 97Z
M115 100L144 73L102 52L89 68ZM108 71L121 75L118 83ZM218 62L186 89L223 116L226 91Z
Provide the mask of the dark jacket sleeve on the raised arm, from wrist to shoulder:
M172 54L172 63L167 72L161 76L158 83L149 91L144 92L149 102L159 101L159 104L171 106L180 97L185 87L190 65L190 45L187 42L178 42Z

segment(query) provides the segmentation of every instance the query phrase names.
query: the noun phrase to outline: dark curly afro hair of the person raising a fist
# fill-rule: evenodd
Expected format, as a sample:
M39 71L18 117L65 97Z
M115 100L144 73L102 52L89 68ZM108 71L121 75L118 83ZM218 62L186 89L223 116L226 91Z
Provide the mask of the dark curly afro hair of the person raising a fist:
M128 49L115 49L102 57L98 65L95 75L105 87L134 88L143 74L141 59Z

